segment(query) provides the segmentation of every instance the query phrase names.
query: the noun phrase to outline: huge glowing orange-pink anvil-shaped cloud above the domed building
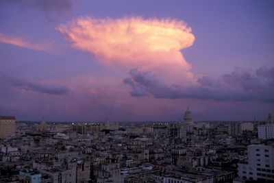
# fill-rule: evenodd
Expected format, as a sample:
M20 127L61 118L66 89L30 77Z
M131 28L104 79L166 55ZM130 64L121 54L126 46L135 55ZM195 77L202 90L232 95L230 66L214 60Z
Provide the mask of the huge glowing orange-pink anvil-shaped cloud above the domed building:
M73 47L91 53L105 64L138 67L164 77L192 76L180 50L195 36L182 21L171 19L75 19L56 28ZM171 78L171 77L170 77Z

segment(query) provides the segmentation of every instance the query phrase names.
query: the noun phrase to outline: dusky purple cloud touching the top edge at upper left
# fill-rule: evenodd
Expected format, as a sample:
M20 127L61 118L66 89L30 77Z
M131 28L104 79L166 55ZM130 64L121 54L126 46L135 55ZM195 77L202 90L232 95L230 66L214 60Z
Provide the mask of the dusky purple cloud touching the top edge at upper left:
M35 8L41 11L47 21L55 21L59 16L73 12L73 0L6 0L17 3L22 8Z

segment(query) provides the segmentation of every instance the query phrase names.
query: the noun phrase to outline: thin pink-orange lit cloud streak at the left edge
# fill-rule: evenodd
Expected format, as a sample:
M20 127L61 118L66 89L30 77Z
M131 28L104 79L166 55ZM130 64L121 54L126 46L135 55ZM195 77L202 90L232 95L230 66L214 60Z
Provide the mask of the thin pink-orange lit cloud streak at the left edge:
M4 42L10 45L15 45L17 47L23 47L27 49L34 49L38 51L49 51L48 47L49 44L35 44L31 42L27 42L25 40L22 40L21 38L14 37L14 36L5 36L4 34L0 33L0 42Z

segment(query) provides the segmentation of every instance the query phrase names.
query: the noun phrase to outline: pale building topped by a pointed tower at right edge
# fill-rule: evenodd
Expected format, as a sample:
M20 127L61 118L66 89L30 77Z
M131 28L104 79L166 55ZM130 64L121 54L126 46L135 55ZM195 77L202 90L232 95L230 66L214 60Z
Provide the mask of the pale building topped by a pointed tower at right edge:
M264 140L274 138L274 123L271 114L269 114L265 125L258 126L258 138Z

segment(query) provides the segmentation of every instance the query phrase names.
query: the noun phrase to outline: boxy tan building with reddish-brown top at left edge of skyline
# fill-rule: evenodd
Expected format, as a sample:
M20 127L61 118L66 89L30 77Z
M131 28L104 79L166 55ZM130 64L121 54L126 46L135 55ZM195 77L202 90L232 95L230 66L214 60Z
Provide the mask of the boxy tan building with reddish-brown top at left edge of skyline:
M0 138L15 135L15 117L0 116Z

